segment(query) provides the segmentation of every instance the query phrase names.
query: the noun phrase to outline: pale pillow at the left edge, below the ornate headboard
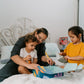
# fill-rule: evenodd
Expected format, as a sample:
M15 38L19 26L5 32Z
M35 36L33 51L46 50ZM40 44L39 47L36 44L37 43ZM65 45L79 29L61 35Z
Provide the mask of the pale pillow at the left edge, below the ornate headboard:
M13 46L3 46L1 47L1 62L7 62L10 59L11 51Z

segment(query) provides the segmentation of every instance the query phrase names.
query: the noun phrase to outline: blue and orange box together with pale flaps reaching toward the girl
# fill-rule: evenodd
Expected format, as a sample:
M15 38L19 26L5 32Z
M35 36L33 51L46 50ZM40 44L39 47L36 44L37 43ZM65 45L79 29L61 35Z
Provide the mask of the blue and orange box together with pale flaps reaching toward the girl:
M82 64L77 66L76 63L67 63L64 68L59 66L38 66L39 71L33 70L33 74L35 77L40 78L62 77L65 72L82 70L82 67Z

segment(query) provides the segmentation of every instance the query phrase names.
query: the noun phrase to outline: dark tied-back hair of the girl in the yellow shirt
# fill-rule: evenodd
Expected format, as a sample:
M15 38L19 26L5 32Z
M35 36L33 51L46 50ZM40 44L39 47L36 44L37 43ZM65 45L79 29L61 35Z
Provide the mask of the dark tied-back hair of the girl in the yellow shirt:
M68 32L69 31L71 31L77 37L79 37L79 34L81 34L82 35L82 42L84 42L84 40L83 40L83 29L80 26L73 26L73 27L69 28Z

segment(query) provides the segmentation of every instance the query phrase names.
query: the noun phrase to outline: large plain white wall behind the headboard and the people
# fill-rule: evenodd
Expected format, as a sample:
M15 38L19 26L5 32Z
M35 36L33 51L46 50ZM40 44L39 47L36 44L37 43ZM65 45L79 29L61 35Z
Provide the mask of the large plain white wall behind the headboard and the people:
M0 0L0 29L10 27L20 17L47 28L52 42L57 42L68 35L69 27L77 25L77 0Z

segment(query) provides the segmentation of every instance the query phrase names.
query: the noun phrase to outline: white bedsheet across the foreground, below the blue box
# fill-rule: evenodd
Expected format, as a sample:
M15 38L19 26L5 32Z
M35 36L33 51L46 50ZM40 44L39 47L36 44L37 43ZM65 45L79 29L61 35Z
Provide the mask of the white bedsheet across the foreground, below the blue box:
M33 74L13 75L0 84L84 84L84 71L67 73L63 77L42 79Z

